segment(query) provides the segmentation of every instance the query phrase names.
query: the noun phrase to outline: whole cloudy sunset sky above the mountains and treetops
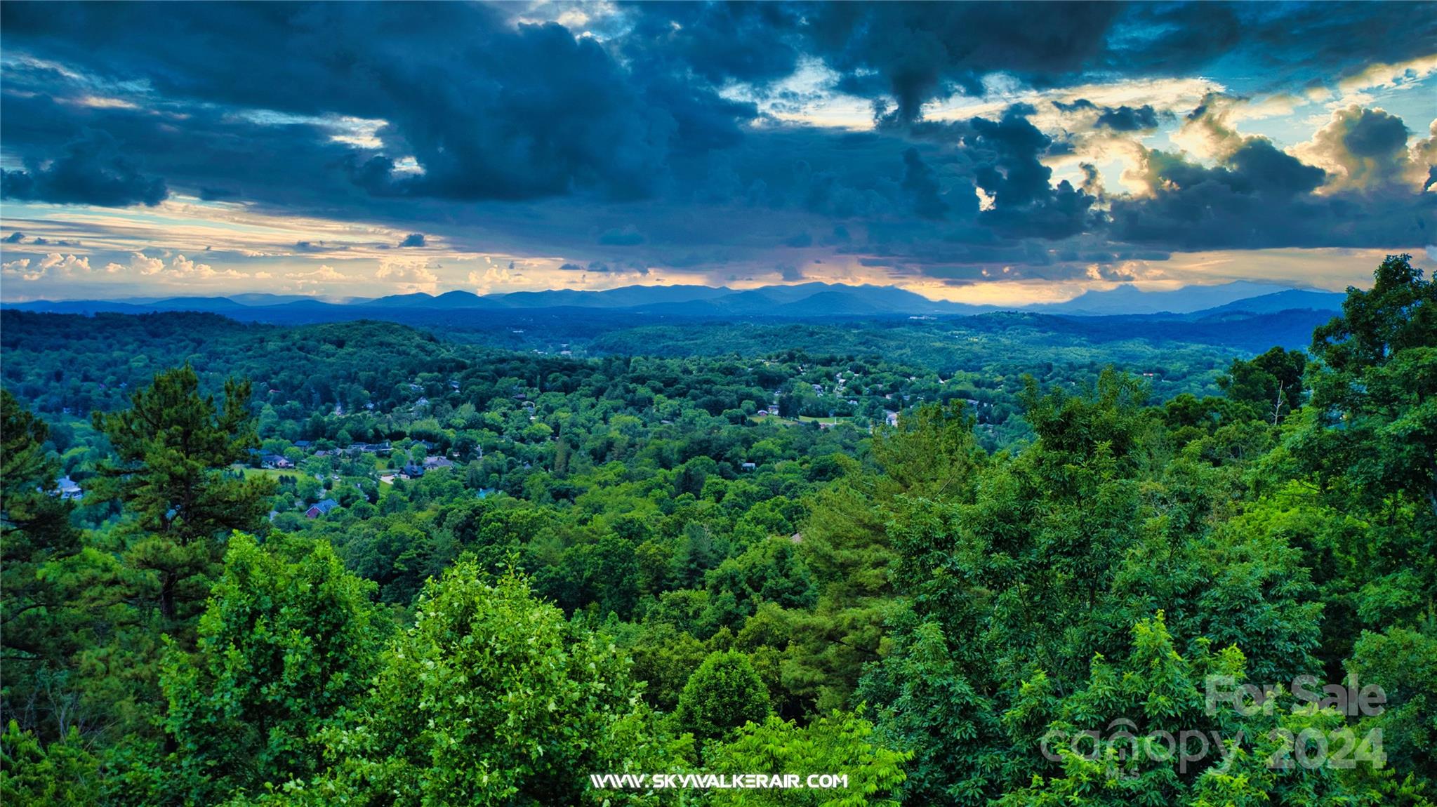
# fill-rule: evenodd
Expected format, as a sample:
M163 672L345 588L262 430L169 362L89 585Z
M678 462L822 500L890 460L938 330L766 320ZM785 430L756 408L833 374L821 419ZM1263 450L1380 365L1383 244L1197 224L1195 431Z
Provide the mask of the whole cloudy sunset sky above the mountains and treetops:
M0 299L1437 266L1434 3L0 3Z

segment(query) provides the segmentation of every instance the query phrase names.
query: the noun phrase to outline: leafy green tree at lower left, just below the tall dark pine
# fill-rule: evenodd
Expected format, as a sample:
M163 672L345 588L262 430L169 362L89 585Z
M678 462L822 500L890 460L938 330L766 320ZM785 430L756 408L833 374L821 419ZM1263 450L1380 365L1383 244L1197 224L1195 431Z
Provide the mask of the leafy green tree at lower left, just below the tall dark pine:
M328 543L296 561L234 534L200 617L195 652L171 645L160 676L175 751L165 791L214 803L241 788L315 773L322 729L362 709L389 623L375 584L345 570Z

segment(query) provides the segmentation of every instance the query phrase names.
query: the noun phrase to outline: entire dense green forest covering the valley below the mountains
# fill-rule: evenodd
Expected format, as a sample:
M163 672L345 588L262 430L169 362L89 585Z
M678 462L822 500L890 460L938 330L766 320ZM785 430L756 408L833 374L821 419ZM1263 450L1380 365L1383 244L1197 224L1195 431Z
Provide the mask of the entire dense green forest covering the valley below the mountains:
M986 322L7 310L0 800L1437 803L1437 281Z

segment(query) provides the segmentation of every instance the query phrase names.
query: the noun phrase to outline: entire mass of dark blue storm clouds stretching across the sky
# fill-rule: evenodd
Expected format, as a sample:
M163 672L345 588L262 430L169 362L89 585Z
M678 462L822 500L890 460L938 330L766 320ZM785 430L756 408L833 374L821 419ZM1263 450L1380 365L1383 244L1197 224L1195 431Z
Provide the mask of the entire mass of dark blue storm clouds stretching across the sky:
M543 254L570 258L566 270L595 273L773 267L775 248L818 246L971 281L954 267L1068 277L1069 263L1170 248L1385 244L1430 220L1430 202L1319 195L1332 175L1266 141L1207 167L1147 152L1152 195L1108 198L1091 169L1076 187L1053 182L1045 159L1081 141L1043 134L1027 108L944 123L920 112L993 73L1045 88L1230 60L1303 82L1341 76L1430 43L1437 14L1424 10L642 3L592 22L602 36L588 37L516 24L512 6L6 3L0 139L24 168L6 172L4 191L125 205L172 190L384 221L445 246L483 228L486 248L553 247ZM1300 36L1279 36L1288 29ZM882 125L790 125L736 101L802 111L802 93L819 90L773 82L805 60L872 101ZM1065 109L1112 136L1161 122L1152 106ZM385 123L356 134L345 118ZM1332 159L1394 162L1407 129L1390 118L1355 116Z

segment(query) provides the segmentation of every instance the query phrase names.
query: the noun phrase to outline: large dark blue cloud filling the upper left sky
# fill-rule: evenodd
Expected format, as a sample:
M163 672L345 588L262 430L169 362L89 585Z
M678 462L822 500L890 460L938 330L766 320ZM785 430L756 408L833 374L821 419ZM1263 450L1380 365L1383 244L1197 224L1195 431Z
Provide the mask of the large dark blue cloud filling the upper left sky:
M240 36L239 32L243 32ZM650 195L671 149L731 142L752 105L638 75L558 24L517 29L471 4L7 4L20 47L168 99L384 119L371 191L527 200ZM201 46L203 43L203 46Z

